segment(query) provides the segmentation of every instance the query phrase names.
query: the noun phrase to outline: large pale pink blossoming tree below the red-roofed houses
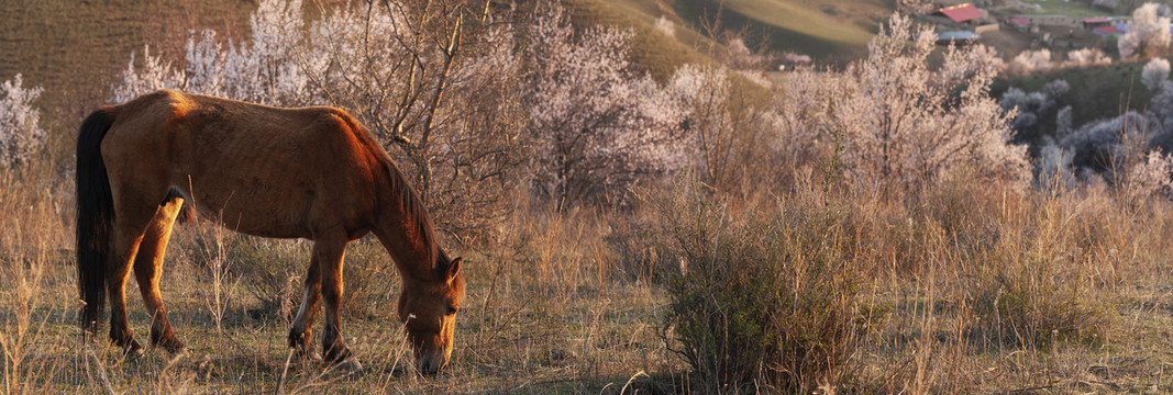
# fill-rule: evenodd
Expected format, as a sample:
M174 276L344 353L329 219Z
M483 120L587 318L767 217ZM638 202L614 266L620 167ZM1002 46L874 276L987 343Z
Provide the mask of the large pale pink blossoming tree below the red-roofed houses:
M800 139L839 144L839 165L853 184L911 188L972 166L1024 185L1030 166L1025 148L1010 144L1013 111L989 97L994 66L949 48L945 64L934 69L934 49L931 32L894 15L868 45L868 59L850 64L842 80L791 79L782 102L801 107L781 111L792 114L784 134L818 132Z

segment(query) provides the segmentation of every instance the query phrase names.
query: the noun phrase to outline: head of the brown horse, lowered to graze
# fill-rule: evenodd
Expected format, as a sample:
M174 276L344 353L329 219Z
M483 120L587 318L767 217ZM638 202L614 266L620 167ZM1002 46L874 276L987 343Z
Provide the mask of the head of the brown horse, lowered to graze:
M443 259L442 259L443 260ZM465 299L465 277L460 258L436 265L438 280L405 281L399 295L399 320L407 327L407 340L415 352L420 372L434 374L448 365L452 355L456 312Z

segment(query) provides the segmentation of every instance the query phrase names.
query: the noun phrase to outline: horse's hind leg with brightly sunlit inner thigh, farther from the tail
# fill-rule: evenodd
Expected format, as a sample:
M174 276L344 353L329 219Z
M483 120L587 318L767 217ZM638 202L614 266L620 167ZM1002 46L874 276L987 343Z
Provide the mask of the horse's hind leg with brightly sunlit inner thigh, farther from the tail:
M163 297L158 292L158 279L162 275L163 254L167 243L171 239L171 226L175 217L183 207L183 198L171 197L155 211L135 256L135 279L138 280L138 292L142 293L147 314L151 319L150 341L170 353L183 349L183 342L175 338L171 322L163 308Z

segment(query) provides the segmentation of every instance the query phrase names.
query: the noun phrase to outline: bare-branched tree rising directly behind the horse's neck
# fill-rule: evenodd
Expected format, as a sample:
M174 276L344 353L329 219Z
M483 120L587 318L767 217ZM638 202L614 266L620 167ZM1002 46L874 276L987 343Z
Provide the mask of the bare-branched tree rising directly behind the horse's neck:
M452 209L436 218L449 230L500 213L523 157L507 16L489 1L374 1L316 25L303 59L320 96L406 159L428 205Z

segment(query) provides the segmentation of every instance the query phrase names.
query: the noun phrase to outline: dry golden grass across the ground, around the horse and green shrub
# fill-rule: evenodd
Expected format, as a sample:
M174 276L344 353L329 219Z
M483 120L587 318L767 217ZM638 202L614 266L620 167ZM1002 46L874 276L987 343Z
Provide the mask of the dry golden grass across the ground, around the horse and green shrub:
M287 363L289 299L297 294L307 243L181 226L163 293L189 349L175 357L156 349L123 357L114 347L79 339L70 185L40 175L39 186L9 175L0 183L5 393L737 388L705 382L669 349L679 345L677 334L664 332L666 281L679 271L673 256L679 250L665 237L671 216L650 209L520 207L502 220L495 239L461 251L473 264L466 267L469 299L453 367L438 377L414 372L392 314L398 277L377 243L360 240L347 254L344 333L367 369L343 375ZM843 285L854 291L828 299L847 302L830 307L869 318L853 342L839 345L845 354L834 374L808 381L811 387L1173 390L1165 374L1173 362L1167 353L1173 245L1162 237L1173 220L1168 203L1120 205L1110 189L1053 196L945 183L897 198L813 185L748 202L711 197L714 210L724 210L721 226L758 224L746 230L789 234L779 244L793 259L755 257L787 264L804 251L819 252L821 258L808 258L853 271L855 280ZM649 192L657 193L678 192ZM145 339L149 322L136 286L128 293L131 325ZM796 286L793 291L805 291ZM766 384L740 389L771 388Z

